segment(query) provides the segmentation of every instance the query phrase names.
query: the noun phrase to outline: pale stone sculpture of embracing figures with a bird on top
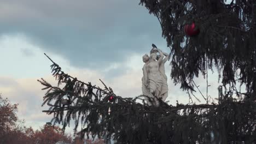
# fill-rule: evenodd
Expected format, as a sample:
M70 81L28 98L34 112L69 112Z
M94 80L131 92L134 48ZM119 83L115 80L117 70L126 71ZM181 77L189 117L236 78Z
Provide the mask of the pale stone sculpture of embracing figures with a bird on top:
M148 105L159 105L157 98L165 101L168 97L167 76L165 74L165 62L168 60L168 56L168 53L162 52L153 44L150 56L145 54L142 57L145 63L142 68L142 93ZM149 98L152 98L153 101L150 101Z

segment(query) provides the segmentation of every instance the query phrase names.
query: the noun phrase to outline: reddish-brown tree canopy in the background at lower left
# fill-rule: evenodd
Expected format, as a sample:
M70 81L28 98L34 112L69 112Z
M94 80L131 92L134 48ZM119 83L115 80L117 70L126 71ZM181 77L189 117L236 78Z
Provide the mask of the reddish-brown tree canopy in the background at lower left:
M70 135L63 134L60 127L51 124L43 125L40 130L33 130L24 126L24 121L20 121L16 112L18 104L11 104L0 94L0 143L6 144L56 144L74 143L84 144L86 140L80 140L78 135L74 139ZM100 144L102 140L87 140L88 144Z

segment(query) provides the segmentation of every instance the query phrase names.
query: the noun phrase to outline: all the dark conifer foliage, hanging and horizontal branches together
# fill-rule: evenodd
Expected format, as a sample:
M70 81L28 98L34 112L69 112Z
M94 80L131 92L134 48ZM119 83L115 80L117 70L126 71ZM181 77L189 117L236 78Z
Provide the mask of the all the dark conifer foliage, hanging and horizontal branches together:
M171 53L171 77L181 88L195 91L193 78L215 65L225 92L218 104L148 106L142 95L122 98L103 82L104 88L77 80L53 62L58 86L44 79L43 105L54 113L53 123L63 130L73 119L74 132L103 137L107 143L256 143L256 1L236 0L141 0L162 27ZM185 35L187 24L195 23L200 33ZM219 77L219 78L220 78ZM64 88L59 85L64 84ZM246 86L237 91L236 83ZM61 99L70 95L71 103ZM238 99L236 99L237 97ZM109 100L111 98L111 100ZM136 103L142 99L143 103Z

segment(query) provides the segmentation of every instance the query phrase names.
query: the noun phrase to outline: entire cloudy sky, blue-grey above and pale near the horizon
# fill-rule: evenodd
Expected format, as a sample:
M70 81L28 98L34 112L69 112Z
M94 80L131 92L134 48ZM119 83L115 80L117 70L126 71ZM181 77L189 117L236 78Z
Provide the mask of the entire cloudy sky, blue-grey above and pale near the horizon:
M38 129L51 119L42 112L48 107L41 107L45 91L37 82L43 77L56 83L44 52L84 82L102 87L101 79L122 97L142 94L142 56L152 43L162 51L170 49L156 17L138 4L138 0L0 0L0 93L19 103L18 116L27 126ZM188 94L170 79L169 63L167 100L187 104ZM217 95L217 76L209 76L212 97ZM205 94L206 80L200 77L195 82ZM195 94L205 103L200 93Z

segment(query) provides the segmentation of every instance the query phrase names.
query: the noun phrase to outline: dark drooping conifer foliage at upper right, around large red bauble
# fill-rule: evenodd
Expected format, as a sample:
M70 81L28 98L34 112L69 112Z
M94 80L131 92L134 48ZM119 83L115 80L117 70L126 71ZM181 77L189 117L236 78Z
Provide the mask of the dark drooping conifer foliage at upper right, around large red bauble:
M171 77L194 90L193 77L218 68L224 86L245 84L247 98L256 97L256 1L141 0L158 17L170 46ZM185 37L184 26L195 22L197 37ZM232 88L237 92L235 88Z

